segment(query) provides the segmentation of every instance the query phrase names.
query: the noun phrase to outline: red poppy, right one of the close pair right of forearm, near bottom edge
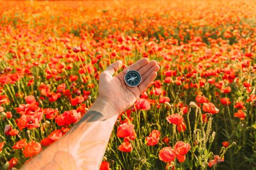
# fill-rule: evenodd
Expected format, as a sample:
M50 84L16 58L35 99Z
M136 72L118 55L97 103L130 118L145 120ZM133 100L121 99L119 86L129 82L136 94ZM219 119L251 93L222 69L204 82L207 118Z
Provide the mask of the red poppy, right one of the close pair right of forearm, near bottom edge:
M176 153L177 159L179 162L184 162L186 159L185 154L187 154L190 150L191 146L189 143L185 143L183 141L178 141L174 145L173 152Z

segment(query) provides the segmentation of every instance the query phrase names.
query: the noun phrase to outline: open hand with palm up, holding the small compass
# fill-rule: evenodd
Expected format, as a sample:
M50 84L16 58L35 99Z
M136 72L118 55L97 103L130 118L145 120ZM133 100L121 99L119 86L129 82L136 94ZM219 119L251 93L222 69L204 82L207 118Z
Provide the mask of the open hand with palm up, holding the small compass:
M115 114L121 114L131 107L139 98L140 94L156 78L160 67L155 60L149 62L148 58L143 58L129 66L129 69L137 70L141 74L141 83L136 87L126 85L124 76L127 70L123 70L116 76L113 74L123 66L122 61L111 64L100 75L99 80L99 100L107 101ZM98 100L97 99L97 100Z

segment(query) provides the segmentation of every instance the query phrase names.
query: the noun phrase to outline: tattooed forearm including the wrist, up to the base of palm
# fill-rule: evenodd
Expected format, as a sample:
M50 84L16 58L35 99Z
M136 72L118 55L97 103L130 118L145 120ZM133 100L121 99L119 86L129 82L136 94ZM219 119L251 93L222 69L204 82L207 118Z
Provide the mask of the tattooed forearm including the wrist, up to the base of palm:
M97 170L118 115L106 100L97 99L65 136L25 164L23 169Z

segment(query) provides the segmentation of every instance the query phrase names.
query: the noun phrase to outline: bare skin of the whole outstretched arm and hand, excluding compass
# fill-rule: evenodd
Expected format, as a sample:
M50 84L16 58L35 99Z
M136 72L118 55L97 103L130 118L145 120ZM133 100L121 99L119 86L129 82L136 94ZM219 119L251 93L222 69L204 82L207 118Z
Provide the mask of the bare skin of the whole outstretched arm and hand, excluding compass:
M22 170L98 170L118 116L131 107L157 76L157 62L143 58L129 66L141 76L141 84L129 87L127 70L113 76L122 61L111 64L99 79L99 95L87 113L60 140L26 163Z

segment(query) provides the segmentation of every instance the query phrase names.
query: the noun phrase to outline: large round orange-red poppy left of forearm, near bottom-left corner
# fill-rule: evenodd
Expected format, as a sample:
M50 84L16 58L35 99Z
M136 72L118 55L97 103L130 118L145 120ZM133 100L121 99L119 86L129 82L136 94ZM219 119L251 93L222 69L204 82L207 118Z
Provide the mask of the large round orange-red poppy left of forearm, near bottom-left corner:
M32 140L25 146L23 150L23 154L25 157L31 157L40 153L41 150L42 150L41 144Z

